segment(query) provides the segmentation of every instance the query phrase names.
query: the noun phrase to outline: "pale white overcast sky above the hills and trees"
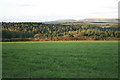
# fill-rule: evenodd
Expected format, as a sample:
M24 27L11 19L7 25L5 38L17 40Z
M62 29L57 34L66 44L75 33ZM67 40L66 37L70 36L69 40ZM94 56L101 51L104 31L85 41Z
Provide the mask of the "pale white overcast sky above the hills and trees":
M119 0L1 0L0 22L117 18Z

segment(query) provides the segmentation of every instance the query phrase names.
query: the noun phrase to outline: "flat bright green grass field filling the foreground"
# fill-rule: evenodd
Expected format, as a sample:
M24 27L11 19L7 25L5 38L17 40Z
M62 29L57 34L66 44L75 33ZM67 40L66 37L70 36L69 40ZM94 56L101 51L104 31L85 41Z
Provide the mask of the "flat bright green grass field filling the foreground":
M3 78L117 78L117 41L4 42Z

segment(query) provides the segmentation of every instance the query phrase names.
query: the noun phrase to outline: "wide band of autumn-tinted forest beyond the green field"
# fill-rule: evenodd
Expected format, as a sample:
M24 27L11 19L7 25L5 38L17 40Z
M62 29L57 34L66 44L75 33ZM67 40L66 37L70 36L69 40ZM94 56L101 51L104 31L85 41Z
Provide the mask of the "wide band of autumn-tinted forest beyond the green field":
M2 41L118 40L117 24L2 22Z

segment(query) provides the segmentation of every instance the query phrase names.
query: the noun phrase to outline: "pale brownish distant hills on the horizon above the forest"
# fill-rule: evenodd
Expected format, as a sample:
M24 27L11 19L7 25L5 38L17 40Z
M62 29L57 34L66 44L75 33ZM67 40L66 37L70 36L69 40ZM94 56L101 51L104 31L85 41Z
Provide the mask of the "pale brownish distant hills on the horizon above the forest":
M48 21L45 23L87 23L87 24L116 24L118 23L118 19L105 19L105 18L87 18L87 19L80 19L80 20L74 20L74 19L58 19L55 21Z

